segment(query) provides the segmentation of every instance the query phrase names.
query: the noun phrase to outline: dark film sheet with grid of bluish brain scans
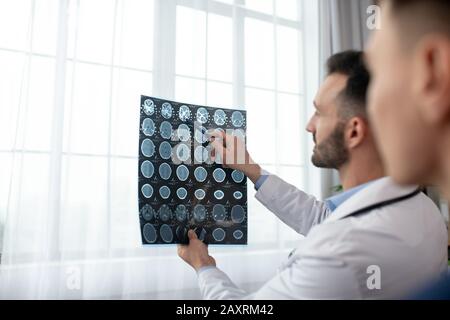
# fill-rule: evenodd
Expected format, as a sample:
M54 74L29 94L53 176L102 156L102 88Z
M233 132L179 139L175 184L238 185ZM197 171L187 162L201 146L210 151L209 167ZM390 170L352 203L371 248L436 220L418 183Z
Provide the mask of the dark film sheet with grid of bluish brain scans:
M211 157L211 130L245 141L242 110L141 96L139 220L142 243L247 244L247 177Z

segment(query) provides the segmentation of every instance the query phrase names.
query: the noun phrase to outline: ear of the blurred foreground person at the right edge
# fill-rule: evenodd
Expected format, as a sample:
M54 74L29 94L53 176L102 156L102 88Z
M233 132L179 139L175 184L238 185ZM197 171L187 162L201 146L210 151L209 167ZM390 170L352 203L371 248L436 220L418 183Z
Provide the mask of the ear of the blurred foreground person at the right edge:
M423 119L432 125L450 120L450 39L425 36L414 50L413 96Z

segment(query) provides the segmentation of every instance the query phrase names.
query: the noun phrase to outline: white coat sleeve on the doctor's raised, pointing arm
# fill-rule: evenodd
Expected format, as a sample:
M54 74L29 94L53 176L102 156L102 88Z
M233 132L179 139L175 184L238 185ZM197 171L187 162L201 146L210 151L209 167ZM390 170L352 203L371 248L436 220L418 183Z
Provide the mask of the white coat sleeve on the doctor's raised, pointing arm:
M268 175L255 197L302 235L307 235L312 226L321 223L331 213L325 202L272 174Z

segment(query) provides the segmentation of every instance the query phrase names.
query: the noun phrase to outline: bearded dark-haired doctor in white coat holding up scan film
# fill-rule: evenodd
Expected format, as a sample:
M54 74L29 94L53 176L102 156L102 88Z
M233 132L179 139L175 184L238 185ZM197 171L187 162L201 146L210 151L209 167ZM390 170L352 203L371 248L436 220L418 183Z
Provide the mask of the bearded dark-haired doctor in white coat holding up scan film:
M224 164L255 183L256 198L306 237L275 277L246 292L190 231L178 254L197 271L205 299L402 298L446 270L447 232L437 207L417 186L384 177L366 118L369 75L362 60L356 51L328 60L307 127L316 143L312 161L338 169L340 195L319 201L262 171L237 138L220 134L212 142ZM240 150L246 161L237 161Z

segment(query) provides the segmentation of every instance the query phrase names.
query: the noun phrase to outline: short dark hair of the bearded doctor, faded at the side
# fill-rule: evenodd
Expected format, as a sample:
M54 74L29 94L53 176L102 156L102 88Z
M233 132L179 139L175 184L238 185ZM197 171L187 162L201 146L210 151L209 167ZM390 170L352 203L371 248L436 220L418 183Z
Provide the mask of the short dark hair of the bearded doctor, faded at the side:
M327 60L328 75L339 73L348 76L347 84L340 93L339 115L367 117L367 88L370 74L364 63L362 51L347 50L336 53Z

